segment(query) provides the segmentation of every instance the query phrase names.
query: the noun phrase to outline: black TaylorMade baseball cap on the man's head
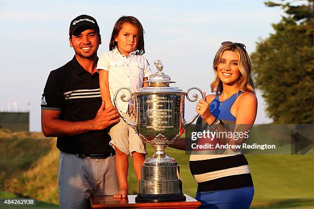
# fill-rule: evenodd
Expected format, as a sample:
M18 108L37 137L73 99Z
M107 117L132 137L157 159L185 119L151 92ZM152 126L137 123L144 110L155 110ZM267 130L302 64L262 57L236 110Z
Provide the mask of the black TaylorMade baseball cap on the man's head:
M82 27L84 26L84 27ZM94 17L86 15L86 14L82 14L78 17L75 17L70 24L70 30L69 30L69 35L70 37L72 36L72 34L75 34L75 32L78 28L82 28L82 29L93 29L95 32L97 32L98 34L100 34L100 30L99 30L99 26L97 24L97 21ZM84 30L80 31L79 34L81 34L81 32L83 32Z

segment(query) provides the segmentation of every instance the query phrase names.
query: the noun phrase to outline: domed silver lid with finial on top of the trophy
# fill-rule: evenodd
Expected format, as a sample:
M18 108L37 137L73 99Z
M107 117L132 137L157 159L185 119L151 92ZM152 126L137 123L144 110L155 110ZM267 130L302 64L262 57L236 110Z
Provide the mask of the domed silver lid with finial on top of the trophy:
M134 92L136 93L153 93L153 92L168 92L168 93L174 93L174 92L183 92L178 87L169 87L169 83L175 83L175 81L172 81L170 76L163 73L162 70L164 66L162 65L161 60L155 60L154 65L158 69L158 72L155 74L152 74L148 77L148 80L144 81L145 83L149 83L148 87L143 87L139 89L138 91Z

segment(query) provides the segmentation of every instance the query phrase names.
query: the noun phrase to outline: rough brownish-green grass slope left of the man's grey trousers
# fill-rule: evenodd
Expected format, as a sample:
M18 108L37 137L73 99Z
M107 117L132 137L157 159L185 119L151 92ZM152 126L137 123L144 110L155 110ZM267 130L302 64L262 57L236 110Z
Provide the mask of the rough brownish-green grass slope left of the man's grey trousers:
M0 191L58 202L58 150L52 138L0 138Z

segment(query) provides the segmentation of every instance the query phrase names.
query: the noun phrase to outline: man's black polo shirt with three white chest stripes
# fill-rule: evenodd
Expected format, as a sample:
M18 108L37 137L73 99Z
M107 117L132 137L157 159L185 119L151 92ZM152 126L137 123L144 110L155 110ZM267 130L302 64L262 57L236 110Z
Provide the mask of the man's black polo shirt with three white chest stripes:
M60 110L62 120L93 119L102 103L99 73L84 70L75 56L50 72L42 97L42 110ZM57 148L67 153L110 153L107 129L76 136L58 137Z

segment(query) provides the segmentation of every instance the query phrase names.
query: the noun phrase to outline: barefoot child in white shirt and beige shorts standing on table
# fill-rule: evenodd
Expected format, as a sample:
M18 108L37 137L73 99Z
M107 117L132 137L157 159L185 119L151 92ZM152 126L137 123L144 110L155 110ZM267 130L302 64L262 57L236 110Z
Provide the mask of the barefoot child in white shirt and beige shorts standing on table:
M120 17L114 25L109 52L101 55L97 62L100 73L100 91L105 109L112 106L113 95L119 88L128 87L132 92L147 87L147 77L152 74L144 50L144 29L138 19L132 16ZM133 99L122 102L117 96L117 105L129 120L134 120ZM116 172L119 180L119 192L115 198L127 198L128 195L128 155L132 155L133 168L138 180L141 178L141 166L147 151L145 144L124 121L116 123L109 131L110 145L115 149Z

